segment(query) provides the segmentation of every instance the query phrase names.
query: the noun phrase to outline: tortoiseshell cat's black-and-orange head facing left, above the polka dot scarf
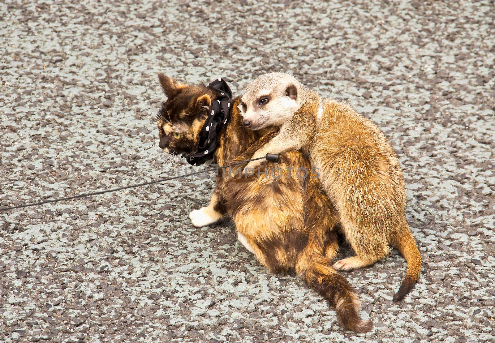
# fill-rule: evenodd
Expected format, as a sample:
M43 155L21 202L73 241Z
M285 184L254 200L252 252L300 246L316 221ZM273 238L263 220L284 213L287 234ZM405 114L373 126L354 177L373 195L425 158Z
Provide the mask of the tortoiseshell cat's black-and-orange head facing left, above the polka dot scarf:
M167 101L158 112L159 147L173 154L189 154L208 116L214 94L204 84L186 85L158 74Z

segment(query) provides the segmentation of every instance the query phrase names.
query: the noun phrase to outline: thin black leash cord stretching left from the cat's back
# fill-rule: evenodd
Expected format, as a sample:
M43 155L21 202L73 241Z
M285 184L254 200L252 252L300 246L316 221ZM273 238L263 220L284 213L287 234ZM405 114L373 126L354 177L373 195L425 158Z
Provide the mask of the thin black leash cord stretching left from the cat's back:
M267 154L264 157L247 159L245 161L240 161L240 162L228 164L228 165L225 165L223 167L216 167L216 168L212 168L212 169L208 169L208 170L202 170L202 171L198 171L198 172L195 172L195 173L192 173L192 174L177 175L177 176L172 176L172 177L168 177L168 178L165 178L165 179L158 179L158 180L154 180L154 181L143 182L141 184L135 184L135 185L125 186L125 187L113 188L111 190L106 190L106 191L99 191L99 192L93 192L93 193L78 194L77 196L59 197L59 198L51 199L51 200L45 200L45 201L34 202L34 203L26 203L26 204L19 205L19 206L2 207L2 208L0 208L0 212L11 210L11 209L16 209L16 208L24 208L24 207L30 207L30 206L36 206L36 205L43 205L43 204L50 203L50 202L72 200L72 199L77 199L77 198L85 197L85 196L97 196L99 194L116 192L116 191L122 191L122 190L127 190L129 188L134 188L134 187L148 186L148 185L157 184L157 183L160 183L160 182L165 182L165 181L180 179L180 178L183 178L183 177L198 175L198 174L207 173L207 172L210 172L210 171L216 171L218 169L225 169L225 168L232 167L232 166L235 166L235 165L238 165L238 164L243 164L243 163L246 163L246 162L256 161L258 159L263 159L263 158L266 158L268 161L272 161L272 162L277 162L278 161L278 155L276 155L277 156L276 159L273 156L268 156L268 155L274 155L274 154Z

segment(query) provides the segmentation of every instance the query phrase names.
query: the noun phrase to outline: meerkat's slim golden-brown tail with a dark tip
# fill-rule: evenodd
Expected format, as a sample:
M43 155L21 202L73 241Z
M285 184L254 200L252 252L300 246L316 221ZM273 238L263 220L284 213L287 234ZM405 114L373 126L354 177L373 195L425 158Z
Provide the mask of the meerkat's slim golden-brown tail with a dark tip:
M400 301L411 291L421 273L421 255L407 224L405 229L402 230L402 236L398 238L396 246L397 250L399 250L400 254L407 261L407 271L404 281L402 281L402 285L400 285L398 292L394 295L394 301Z

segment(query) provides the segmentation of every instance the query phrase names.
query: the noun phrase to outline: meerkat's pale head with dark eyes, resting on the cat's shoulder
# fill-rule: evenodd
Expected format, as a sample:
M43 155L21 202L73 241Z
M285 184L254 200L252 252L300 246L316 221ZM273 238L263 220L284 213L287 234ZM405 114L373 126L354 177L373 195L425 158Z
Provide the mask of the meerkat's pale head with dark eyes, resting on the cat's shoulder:
M282 125L300 106L304 85L292 74L271 72L250 82L239 103L249 130Z

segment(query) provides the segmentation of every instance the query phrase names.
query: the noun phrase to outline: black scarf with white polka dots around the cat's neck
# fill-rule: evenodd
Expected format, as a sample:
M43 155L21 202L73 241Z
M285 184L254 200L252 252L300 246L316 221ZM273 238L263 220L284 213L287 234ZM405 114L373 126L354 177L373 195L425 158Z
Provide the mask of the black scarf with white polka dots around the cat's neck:
M229 120L232 105L232 91L223 79L217 79L208 85L216 99L211 104L208 118L199 131L199 143L194 153L186 156L191 165L201 165L213 158L213 153L218 147L217 136Z

